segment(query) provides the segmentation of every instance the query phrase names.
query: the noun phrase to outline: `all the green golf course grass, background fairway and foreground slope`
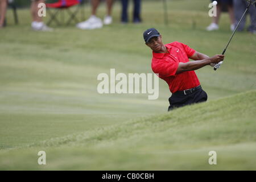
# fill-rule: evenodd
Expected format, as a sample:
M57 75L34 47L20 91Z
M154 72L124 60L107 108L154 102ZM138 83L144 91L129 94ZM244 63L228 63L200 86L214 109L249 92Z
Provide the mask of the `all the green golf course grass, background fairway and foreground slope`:
M167 114L171 93L163 80L158 100L97 92L98 74L110 68L152 73L147 28L157 28L164 43L220 54L232 33L228 14L220 30L207 32L208 10L204 0L168 1L166 26L162 2L143 1L143 23L121 24L117 2L110 26L53 24L53 32L32 31L29 9L18 9L14 25L8 10L0 30L0 169L256 169L255 35L237 32L220 69L196 71L208 93L204 104ZM40 150L46 166L37 164ZM210 150L217 166L208 164Z

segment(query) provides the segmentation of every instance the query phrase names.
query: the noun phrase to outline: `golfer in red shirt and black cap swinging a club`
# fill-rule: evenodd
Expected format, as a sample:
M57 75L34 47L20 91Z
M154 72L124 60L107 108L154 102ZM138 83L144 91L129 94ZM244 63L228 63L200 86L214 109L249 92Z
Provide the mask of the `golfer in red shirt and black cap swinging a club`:
M224 60L224 55L209 57L180 42L164 45L162 36L155 28L144 31L143 37L153 52L152 70L167 82L172 93L168 111L175 107L207 101L207 93L201 88L194 70L206 65L214 67Z

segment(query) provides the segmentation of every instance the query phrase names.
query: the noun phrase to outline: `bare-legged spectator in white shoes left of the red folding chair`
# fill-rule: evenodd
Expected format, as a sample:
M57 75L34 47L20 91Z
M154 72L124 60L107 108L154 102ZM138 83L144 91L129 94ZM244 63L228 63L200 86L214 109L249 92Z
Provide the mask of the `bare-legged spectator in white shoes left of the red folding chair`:
M38 5L39 3L45 3L44 0L31 0L31 15L32 15L32 30L35 31L52 31L52 28L49 28L44 24L42 17L38 16Z

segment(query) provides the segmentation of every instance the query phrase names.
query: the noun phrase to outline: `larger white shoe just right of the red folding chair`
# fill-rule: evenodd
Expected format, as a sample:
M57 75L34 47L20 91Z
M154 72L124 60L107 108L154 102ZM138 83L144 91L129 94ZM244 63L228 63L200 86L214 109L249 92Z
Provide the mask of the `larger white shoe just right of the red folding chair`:
M90 16L88 20L76 24L76 27L82 30L92 30L95 28L101 28L102 26L103 24L101 19L94 15Z

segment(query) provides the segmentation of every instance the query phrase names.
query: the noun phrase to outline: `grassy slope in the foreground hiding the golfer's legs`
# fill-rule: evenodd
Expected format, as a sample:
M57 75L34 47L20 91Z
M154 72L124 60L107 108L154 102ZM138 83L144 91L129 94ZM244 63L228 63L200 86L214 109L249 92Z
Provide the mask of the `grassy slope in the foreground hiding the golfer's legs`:
M255 170L256 90L0 151L0 169ZM232 113L232 114L231 114ZM47 164L37 164L46 151ZM216 151L217 165L209 165Z

